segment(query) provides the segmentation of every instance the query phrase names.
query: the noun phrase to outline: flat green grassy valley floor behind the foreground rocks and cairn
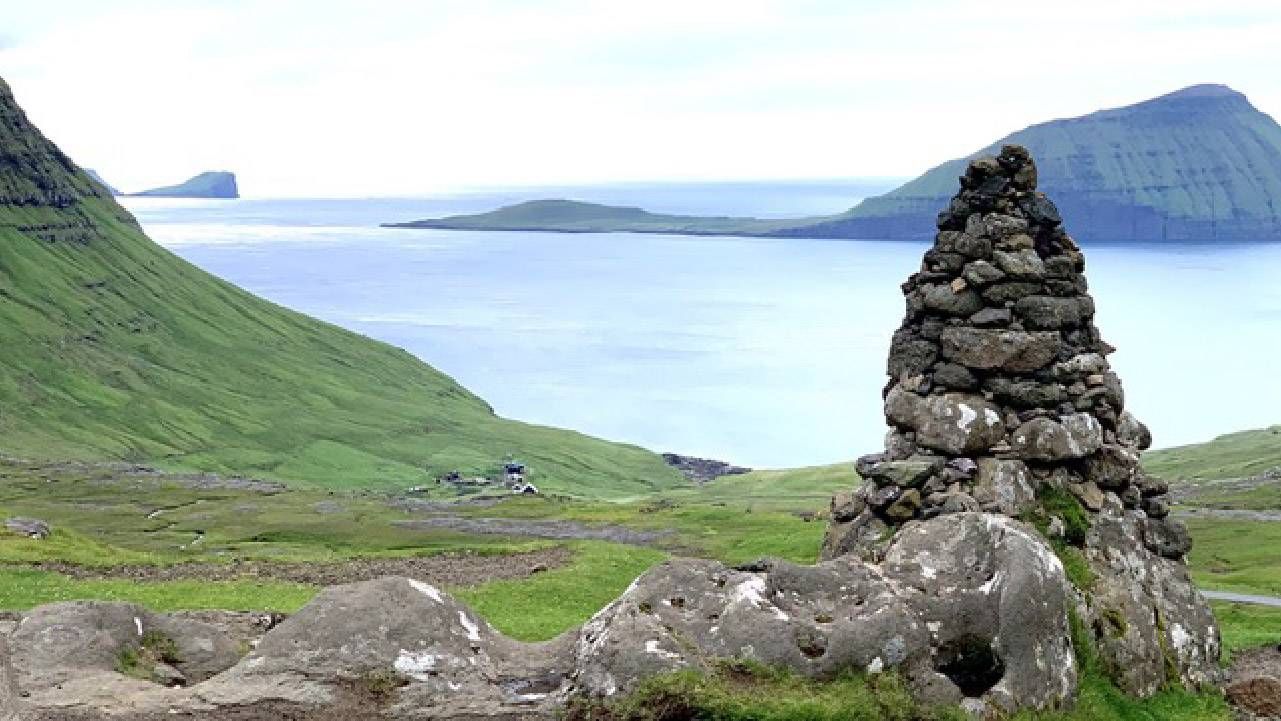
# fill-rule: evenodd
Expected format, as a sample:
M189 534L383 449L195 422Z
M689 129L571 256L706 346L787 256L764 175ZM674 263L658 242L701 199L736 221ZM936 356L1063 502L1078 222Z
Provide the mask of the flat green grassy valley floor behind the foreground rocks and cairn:
M288 613L324 585L401 574L447 588L514 638L548 639L673 555L813 562L830 493L854 483L845 465L753 471L617 502L434 488L425 497L330 492L8 461L0 465L0 517L42 519L54 531L44 540L0 535L0 610L102 598L159 611ZM1266 510L1271 498L1259 489L1182 488L1179 512L1195 538L1189 562L1202 588L1281 597L1281 524L1203 510ZM1281 643L1281 608L1213 606L1228 654ZM1091 693L1121 709L1100 718L1227 718L1202 702L1148 702L1199 709L1158 716L1141 706L1126 711L1129 702L1106 688L1088 688L1086 699Z

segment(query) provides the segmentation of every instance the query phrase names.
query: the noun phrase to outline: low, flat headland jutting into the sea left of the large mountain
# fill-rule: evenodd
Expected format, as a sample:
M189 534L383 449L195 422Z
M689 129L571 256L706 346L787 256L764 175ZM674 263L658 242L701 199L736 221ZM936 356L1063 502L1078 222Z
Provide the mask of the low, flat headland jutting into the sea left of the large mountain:
M792 220L661 215L639 207L598 205L574 200L532 200L475 215L451 215L387 228L446 228L455 231L548 231L560 233L676 233L684 236L765 234Z

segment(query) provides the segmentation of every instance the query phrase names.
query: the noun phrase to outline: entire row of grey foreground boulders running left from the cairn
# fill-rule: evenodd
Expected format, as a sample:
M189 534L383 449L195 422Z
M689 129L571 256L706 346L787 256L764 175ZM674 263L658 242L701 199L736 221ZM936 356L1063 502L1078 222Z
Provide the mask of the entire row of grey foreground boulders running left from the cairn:
M243 658L220 653L218 626L123 603L41 607L12 640L37 709L131 717L324 708L364 688L396 718L550 718L570 695L612 697L728 658L813 677L895 671L924 701L1009 711L1070 703L1073 602L1034 529L971 512L912 521L880 563L670 561L547 643L509 639L434 587L395 576L329 588ZM122 652L154 633L174 642L187 688L122 674Z

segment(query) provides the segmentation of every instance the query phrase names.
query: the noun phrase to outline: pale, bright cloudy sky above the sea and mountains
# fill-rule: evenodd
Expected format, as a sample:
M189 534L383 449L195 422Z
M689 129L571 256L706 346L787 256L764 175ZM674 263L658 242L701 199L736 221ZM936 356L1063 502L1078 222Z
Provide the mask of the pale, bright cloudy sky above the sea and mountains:
M123 190L247 196L915 175L1227 83L1281 114L1276 0L0 0L0 76Z

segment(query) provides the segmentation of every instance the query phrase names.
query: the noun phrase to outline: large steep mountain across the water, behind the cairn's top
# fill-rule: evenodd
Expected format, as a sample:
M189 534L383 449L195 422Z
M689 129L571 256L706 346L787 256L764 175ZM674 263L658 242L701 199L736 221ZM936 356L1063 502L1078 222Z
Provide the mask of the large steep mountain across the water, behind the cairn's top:
M925 239L966 164L1027 147L1086 241L1281 239L1281 126L1226 86L1050 120L788 236Z

